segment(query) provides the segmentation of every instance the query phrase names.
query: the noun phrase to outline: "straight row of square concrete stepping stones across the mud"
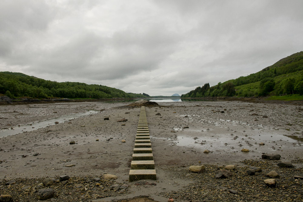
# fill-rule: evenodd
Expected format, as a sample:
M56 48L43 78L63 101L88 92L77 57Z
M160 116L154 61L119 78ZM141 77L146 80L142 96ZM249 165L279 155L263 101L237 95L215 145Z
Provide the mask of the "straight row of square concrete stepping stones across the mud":
M141 106L129 181L156 180L155 162L151 149L145 106Z

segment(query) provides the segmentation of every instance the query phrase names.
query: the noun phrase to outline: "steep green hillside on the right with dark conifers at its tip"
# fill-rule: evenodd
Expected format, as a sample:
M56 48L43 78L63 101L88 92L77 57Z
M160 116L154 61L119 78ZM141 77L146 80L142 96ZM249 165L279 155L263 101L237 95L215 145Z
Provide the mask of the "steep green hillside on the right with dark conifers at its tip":
M257 73L219 82L211 87L206 83L181 97L253 97L280 94L303 95L303 51L283 58Z

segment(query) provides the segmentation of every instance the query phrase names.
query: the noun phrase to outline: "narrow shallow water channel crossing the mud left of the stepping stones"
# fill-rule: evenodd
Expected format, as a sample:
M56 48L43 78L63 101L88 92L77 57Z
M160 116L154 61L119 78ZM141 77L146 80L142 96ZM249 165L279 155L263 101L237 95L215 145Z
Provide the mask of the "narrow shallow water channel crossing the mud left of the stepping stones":
M78 114L68 114L56 118L51 118L51 119L46 119L43 121L35 122L32 124L25 124L25 125L20 125L20 126L12 126L12 127L7 127L7 128L1 128L0 129L0 138L1 137L6 137L9 135L15 135L23 132L30 132L37 130L39 128L45 128L47 126L55 125L55 122L64 123L66 121L75 119L75 118L80 118L83 116L91 115L91 114L96 114L99 111L96 110L90 110L85 113L78 113Z

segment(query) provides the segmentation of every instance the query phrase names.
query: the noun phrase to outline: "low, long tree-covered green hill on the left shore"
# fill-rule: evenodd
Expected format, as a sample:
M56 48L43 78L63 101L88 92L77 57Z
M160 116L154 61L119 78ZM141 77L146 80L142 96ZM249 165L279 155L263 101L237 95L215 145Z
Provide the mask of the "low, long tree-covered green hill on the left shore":
M97 84L56 82L15 72L0 72L0 94L10 98L146 98L143 94Z

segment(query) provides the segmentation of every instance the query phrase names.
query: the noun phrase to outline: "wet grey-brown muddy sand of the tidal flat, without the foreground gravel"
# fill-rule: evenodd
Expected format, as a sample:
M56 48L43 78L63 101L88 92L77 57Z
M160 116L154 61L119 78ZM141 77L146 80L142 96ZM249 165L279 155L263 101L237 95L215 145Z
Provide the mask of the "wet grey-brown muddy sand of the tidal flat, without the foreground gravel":
M262 154L280 154L280 161L295 166L290 172L303 176L302 104L164 102L159 103L161 107L146 107L157 172L157 181L147 181L157 185L135 185L136 182L128 182L128 173L140 108L121 107L127 104L82 102L0 106L2 184L14 179L38 183L45 177L58 178L64 174L76 179L108 173L118 176L113 184L127 184L128 188L102 197L83 198L77 192L79 198L82 196L82 201L110 201L145 195L158 201L167 201L169 196L175 196L175 201L203 201L181 193L196 187L195 183L203 175L189 173L190 165L204 164L206 169L215 171L218 166L234 164L238 171L244 171L248 167L245 162L250 160L256 165L259 162L260 166L268 162L271 169L278 169L275 166L278 161L261 160ZM86 116L73 119L77 114L88 112ZM64 117L66 114L74 115ZM55 117L62 117L58 124L52 119ZM109 120L104 120L106 117ZM122 118L127 121L117 122ZM49 122L43 121L47 119ZM37 123L41 123L42 128L37 129ZM122 143L122 139L126 142ZM71 141L75 144L69 144ZM261 142L264 145L260 145ZM241 152L243 148L249 152ZM208 154L203 153L206 149L210 151ZM215 174L209 174L215 180ZM302 183L300 185L302 191ZM6 185L1 185L0 194L5 192L8 192ZM78 201L77 195L73 197Z

